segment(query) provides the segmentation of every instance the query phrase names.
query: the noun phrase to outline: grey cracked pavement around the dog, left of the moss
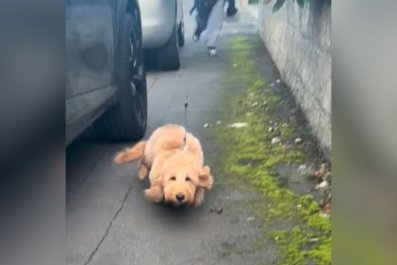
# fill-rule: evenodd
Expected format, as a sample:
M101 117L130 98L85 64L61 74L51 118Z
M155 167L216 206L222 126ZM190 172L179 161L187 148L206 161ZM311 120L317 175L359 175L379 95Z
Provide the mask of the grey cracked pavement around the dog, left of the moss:
M227 51L235 34L253 35L255 26L240 14L226 21L219 39L219 54L207 55L202 43L193 43L193 18L185 2L186 45L181 70L149 71L147 136L165 123L184 123L184 101L189 96L188 124L201 140L204 152L213 146L203 124L213 117L216 102L227 89ZM227 110L224 110L227 111ZM133 143L76 142L67 152L67 264L199 265L270 264L273 249L253 250L257 231L239 202L247 195L233 189L215 189L204 205L175 210L148 202L142 194L147 183L135 178L134 165L114 165L114 154ZM211 161L207 161L211 165ZM215 182L216 182L216 176ZM223 207L221 214L211 209ZM249 220L249 218L248 218Z

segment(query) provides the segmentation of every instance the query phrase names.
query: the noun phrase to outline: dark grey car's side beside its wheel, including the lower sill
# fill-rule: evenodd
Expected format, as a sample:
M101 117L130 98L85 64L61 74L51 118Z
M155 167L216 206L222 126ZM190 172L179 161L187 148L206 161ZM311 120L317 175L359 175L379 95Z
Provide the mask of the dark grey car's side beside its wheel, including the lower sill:
M67 0L66 138L70 142L110 104L115 86L112 0Z

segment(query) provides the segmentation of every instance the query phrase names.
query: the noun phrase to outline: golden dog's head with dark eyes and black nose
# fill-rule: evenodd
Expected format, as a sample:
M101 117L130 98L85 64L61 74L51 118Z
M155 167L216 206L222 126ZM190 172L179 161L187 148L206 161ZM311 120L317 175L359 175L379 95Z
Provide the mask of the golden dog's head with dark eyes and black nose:
M198 188L210 190L212 187L210 168L199 167L187 155L170 158L163 169L164 199L174 206L192 205Z

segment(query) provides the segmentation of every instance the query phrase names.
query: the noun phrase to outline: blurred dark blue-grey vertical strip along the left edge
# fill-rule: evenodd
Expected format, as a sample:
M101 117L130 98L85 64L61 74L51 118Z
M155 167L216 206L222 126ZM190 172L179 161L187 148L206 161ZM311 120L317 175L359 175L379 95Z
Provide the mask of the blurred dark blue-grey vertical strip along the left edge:
M64 260L64 2L0 3L0 263Z

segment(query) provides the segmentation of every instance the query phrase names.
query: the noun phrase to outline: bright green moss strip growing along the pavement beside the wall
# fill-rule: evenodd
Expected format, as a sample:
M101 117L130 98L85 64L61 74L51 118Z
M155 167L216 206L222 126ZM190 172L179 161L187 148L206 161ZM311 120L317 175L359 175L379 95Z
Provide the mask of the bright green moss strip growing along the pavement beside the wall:
M235 37L228 45L232 57L225 82L230 90L221 103L228 110L223 114L223 124L246 122L248 126L232 129L223 125L213 129L218 145L222 146L217 154L217 177L227 176L229 184L260 194L259 199L248 202L259 222L266 224L254 245L269 238L274 240L277 264L307 264L309 260L314 264L331 264L330 220L319 215L318 203L312 195L300 196L283 188L273 173L277 166L305 161L299 146L284 144L293 143L297 125L278 114L280 96L258 71L250 40ZM274 131L268 129L271 121L278 124ZM271 143L276 136L282 143Z

